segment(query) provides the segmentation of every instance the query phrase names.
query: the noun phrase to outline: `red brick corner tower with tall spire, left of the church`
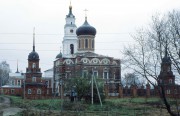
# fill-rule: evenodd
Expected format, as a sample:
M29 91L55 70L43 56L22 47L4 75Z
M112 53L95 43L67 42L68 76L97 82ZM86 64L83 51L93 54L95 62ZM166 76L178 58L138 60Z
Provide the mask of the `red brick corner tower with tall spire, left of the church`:
M35 33L33 34L33 51L28 55L28 67L25 73L25 83L22 86L23 97L27 99L42 99L47 97L47 83L42 79L39 68L39 55L35 51Z

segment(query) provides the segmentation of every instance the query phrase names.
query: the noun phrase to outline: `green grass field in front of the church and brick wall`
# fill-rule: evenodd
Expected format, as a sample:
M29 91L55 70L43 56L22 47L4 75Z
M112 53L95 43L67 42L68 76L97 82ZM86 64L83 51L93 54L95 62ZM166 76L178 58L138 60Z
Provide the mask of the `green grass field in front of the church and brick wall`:
M106 99L101 107L100 104L87 104L84 101L70 102L60 99L46 99L46 100L23 100L21 97L7 96L11 99L11 105L26 109L27 113L65 113L73 112L74 115L91 116L169 116L159 98L119 98ZM63 111L63 112L60 112ZM53 112L53 113L52 113ZM39 114L40 115L40 114ZM55 115L55 114L54 114ZM71 116L68 114L68 116Z

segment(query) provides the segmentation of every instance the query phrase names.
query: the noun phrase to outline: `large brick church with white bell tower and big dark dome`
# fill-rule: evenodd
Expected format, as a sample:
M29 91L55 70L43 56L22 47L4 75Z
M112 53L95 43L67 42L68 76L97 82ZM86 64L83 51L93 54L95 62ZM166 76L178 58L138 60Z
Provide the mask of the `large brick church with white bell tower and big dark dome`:
M54 92L58 95L66 94L65 90L61 91L62 79L94 76L104 81L107 97L121 96L120 59L95 53L96 29L88 23L87 16L84 24L76 29L71 5L64 32L63 53L60 51L54 61Z

